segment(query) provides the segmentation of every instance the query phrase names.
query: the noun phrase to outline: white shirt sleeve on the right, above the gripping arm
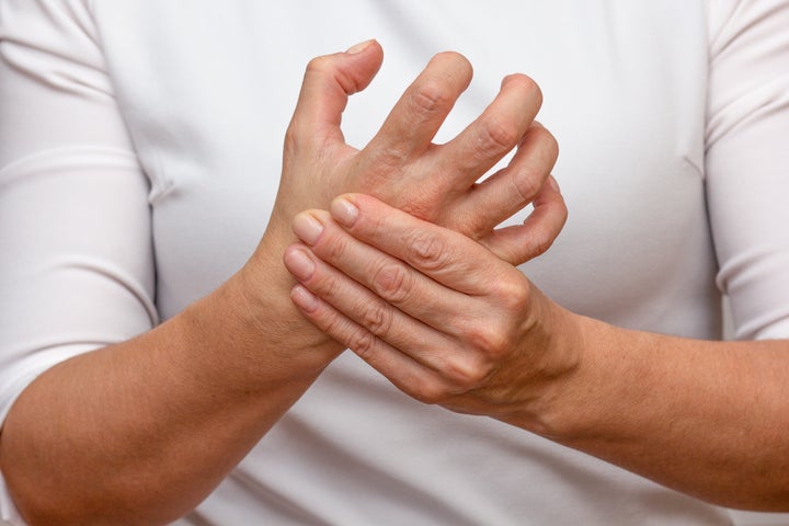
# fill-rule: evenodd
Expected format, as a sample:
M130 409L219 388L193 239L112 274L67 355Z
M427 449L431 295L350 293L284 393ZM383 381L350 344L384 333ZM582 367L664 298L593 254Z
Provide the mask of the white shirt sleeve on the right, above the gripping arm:
M737 339L789 338L789 1L709 3L706 183Z

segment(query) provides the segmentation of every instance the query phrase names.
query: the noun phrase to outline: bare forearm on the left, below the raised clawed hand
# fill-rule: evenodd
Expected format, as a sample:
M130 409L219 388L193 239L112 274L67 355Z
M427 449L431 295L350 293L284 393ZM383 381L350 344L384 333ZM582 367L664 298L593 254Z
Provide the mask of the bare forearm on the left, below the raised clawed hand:
M249 285L239 274L159 328L53 367L22 393L0 461L31 524L172 521L298 399L339 346L297 327L305 322L286 294L252 299Z

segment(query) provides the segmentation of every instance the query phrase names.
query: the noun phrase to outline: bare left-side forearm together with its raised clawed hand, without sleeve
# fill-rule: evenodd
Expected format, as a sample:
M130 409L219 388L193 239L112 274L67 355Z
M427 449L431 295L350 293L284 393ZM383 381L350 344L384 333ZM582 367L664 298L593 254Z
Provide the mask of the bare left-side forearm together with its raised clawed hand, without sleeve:
M83 28L72 30L81 42ZM19 396L3 423L0 467L30 524L174 521L341 352L290 301L295 282L282 256L296 241L297 213L325 208L340 193L367 192L482 240L544 184L556 145L531 127L539 91L525 77L508 78L455 140L431 144L470 79L468 62L454 54L428 65L364 150L346 146L340 117L347 95L366 87L380 62L375 43L311 62L270 228L241 272L152 330L53 366ZM474 185L517 144L508 169ZM124 312L93 307L95 331L88 335L103 334L107 313Z

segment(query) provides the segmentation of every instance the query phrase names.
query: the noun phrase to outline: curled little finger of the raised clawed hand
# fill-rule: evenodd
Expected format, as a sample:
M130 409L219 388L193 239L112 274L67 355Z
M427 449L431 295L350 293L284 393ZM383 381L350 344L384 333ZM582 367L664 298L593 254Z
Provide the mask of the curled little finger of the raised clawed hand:
M512 265L519 265L545 253L561 232L568 209L559 185L548 175L533 201L534 210L523 225L491 231L480 243Z

